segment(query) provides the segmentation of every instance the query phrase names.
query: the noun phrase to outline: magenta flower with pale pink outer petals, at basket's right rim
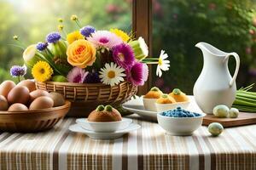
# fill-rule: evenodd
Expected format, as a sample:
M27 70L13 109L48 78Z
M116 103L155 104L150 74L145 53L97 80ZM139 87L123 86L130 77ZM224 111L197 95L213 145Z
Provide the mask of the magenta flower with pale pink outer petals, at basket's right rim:
M136 86L143 86L148 80L148 65L143 63L135 63L131 70L126 71L127 80Z

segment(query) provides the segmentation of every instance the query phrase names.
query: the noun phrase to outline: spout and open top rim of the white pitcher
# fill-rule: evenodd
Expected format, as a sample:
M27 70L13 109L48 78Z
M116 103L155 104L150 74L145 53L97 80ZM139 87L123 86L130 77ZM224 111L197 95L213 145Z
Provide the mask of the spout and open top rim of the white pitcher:
M227 55L224 51L219 50L218 48L213 47L211 44L207 42L198 42L195 44L195 47L200 48L201 51L204 53L209 53L215 56L224 57Z

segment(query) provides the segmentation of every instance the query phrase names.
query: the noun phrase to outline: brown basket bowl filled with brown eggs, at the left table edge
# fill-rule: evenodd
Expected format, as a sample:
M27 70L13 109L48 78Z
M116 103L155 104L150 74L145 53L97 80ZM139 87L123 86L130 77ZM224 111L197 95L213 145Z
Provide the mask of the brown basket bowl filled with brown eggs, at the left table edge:
M34 133L54 127L70 109L61 94L37 89L35 82L4 81L0 86L0 131Z

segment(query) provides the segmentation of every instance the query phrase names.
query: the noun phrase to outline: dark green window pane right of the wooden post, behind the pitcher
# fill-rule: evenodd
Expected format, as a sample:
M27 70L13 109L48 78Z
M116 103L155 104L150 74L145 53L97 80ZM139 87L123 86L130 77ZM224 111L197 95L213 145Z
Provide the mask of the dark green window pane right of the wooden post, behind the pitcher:
M153 53L166 49L171 61L170 71L154 78L153 85L166 93L181 88L192 94L203 65L197 42L240 55L238 88L256 82L255 10L253 0L153 0ZM233 74L235 59L229 65Z

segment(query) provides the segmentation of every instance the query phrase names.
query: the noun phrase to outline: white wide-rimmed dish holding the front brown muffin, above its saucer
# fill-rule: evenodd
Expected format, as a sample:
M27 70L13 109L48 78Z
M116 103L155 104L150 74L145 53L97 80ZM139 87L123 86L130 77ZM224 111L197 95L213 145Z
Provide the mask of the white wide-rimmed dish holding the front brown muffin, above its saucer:
M122 118L121 121L117 122L90 122L87 119L80 118L77 119L76 122L86 130L99 133L110 133L129 127L132 120L128 118Z

